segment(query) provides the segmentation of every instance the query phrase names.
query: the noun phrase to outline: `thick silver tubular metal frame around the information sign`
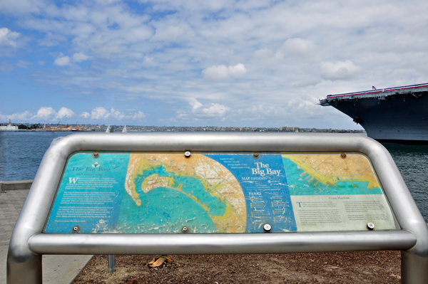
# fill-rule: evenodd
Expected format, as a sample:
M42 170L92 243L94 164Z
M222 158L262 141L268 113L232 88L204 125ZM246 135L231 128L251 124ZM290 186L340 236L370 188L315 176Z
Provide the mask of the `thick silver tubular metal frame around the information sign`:
M298 233L41 233L68 157L115 152L357 152L365 154L401 230ZM153 236L155 235L155 236ZM9 244L7 283L41 284L44 254L223 254L402 251L402 283L428 283L428 226L391 155L361 135L242 132L91 133L52 142Z

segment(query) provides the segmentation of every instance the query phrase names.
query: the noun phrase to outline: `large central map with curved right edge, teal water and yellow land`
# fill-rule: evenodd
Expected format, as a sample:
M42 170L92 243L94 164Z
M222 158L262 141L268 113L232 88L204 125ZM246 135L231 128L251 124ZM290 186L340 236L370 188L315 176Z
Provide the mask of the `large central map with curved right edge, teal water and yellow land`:
M245 196L222 164L204 155L131 154L118 231L245 231ZM166 209L166 210L165 210ZM134 226L135 223L143 225ZM161 226L160 226L161 224Z

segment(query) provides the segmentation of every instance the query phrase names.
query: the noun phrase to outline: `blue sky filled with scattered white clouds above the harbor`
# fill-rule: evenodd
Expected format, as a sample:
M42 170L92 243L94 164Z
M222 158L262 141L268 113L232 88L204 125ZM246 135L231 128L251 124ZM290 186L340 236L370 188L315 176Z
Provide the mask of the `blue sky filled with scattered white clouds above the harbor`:
M427 83L427 14L416 0L0 0L0 122L362 129L317 102Z

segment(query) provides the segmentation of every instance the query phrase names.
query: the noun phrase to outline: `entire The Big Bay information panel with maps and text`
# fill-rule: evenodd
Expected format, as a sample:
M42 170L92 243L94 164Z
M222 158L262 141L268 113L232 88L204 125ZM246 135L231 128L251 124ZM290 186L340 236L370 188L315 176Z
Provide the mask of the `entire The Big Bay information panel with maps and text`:
M362 154L79 152L45 233L255 233L394 229Z

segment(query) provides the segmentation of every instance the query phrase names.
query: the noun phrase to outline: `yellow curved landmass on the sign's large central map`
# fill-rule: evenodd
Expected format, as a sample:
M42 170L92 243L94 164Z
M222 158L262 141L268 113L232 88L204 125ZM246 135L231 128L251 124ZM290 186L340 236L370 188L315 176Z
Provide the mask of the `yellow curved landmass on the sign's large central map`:
M183 154L131 154L125 189L137 206L141 206L141 199L134 180L138 174L142 175L143 172L160 165L165 167L165 172L171 173L171 175L198 179L208 194L226 204L225 214L222 216L210 215L220 232L245 231L247 209L239 182L222 164L202 154L192 154L189 158L184 157ZM181 190L181 185L175 184L173 177L159 177L158 174L152 174L144 179L141 191L147 193L158 187L168 187L182 192L198 202L209 214L208 205L203 204L196 196Z

